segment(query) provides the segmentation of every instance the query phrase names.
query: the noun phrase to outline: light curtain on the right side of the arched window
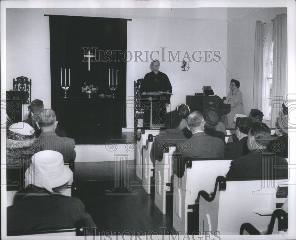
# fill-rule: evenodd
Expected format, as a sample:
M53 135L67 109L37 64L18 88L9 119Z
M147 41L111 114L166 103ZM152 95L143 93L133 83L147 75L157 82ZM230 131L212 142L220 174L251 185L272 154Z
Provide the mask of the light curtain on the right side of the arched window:
M273 20L274 62L273 62L273 93L272 100L283 101L286 98L287 84L287 15L276 15ZM275 128L275 121L281 108L271 107L271 127Z

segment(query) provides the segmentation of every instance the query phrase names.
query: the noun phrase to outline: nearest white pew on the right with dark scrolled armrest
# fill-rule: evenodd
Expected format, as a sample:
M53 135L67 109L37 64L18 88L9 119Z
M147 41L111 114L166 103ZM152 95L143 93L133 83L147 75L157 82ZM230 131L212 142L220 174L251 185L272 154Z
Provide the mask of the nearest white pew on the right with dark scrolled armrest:
M239 234L243 223L256 223L266 229L276 208L287 199L287 180L227 181L218 176L213 194L200 191L199 231L219 231L221 235ZM218 189L219 187L219 189Z

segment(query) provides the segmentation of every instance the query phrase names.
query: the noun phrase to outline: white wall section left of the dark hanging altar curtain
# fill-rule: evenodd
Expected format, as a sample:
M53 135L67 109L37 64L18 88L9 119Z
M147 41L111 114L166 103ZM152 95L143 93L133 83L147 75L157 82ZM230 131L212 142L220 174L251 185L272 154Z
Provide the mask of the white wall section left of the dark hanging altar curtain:
M6 89L13 78L32 79L32 100L51 108L49 18L29 11L6 12Z

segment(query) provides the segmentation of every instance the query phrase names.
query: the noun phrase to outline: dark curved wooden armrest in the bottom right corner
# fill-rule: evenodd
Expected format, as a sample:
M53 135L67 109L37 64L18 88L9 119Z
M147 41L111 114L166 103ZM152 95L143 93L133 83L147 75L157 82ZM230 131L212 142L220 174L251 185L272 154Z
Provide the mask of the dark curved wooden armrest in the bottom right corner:
M278 231L287 231L288 230L288 214L282 209L276 209L271 215L270 223L268 224L266 235L272 234L274 230L274 223L276 218L278 219ZM251 223L243 223L239 229L239 234L242 235L246 231L250 235L259 235L262 234L255 228Z

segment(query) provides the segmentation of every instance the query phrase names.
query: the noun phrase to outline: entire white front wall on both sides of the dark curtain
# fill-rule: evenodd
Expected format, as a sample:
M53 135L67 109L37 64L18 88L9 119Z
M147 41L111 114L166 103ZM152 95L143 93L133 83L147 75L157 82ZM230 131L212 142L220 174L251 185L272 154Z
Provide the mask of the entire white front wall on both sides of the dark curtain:
M8 9L7 10L7 90L12 79L26 76L32 79L32 99L41 99L51 107L49 18L44 14L64 14L97 17L124 17L128 21L129 51L161 51L165 47L180 61L161 62L173 87L171 107L185 102L186 95L202 92L211 85L215 94L223 96L226 79L226 8L205 9ZM106 16L107 14L107 16ZM117 14L117 15L116 15ZM198 17L198 18L197 18ZM220 62L190 62L188 72L181 71L186 50L221 51ZM160 54L161 55L161 54ZM156 56L156 55L153 55ZM198 60L198 53L195 55ZM163 56L161 56L163 57ZM213 55L211 55L213 57ZM217 58L216 58L217 59ZM133 59L135 60L135 59ZM149 62L130 61L127 64L127 99L133 104L133 81L150 71ZM188 61L188 59L185 59ZM193 60L193 59L191 59ZM127 130L133 129L133 109L127 110Z

